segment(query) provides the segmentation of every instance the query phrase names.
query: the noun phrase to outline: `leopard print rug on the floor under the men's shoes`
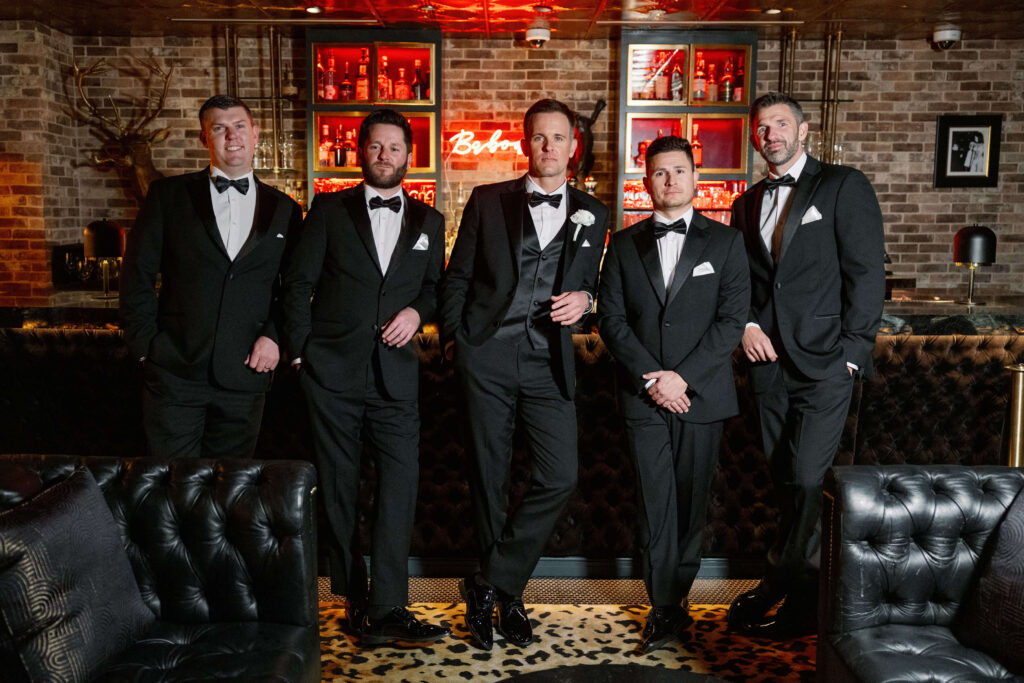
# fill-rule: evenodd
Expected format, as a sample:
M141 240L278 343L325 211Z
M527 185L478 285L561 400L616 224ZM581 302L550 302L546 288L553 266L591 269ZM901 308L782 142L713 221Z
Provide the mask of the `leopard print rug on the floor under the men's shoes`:
M725 632L726 605L690 605L695 623L686 642L637 654L647 607L641 605L529 605L537 642L508 644L495 634L487 652L469 644L461 604L416 603L411 609L432 624L452 628L452 636L427 646L382 645L360 648L348 634L341 604L321 603L323 680L348 681L503 681L562 666L641 665L711 674L725 681L814 680L816 637L773 642Z

